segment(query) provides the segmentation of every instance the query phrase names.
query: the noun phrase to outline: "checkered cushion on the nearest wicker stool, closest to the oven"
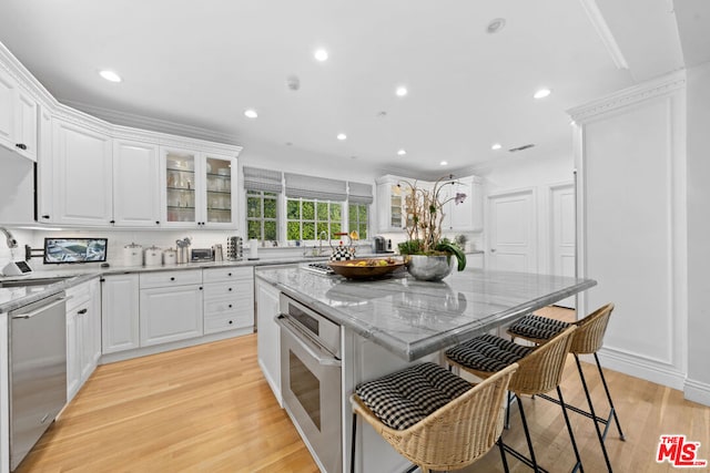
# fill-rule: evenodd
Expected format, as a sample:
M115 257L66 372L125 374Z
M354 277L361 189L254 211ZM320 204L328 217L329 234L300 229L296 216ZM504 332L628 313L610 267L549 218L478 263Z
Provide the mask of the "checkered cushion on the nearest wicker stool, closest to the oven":
M405 430L471 388L438 364L422 363L359 384L355 393L384 424Z

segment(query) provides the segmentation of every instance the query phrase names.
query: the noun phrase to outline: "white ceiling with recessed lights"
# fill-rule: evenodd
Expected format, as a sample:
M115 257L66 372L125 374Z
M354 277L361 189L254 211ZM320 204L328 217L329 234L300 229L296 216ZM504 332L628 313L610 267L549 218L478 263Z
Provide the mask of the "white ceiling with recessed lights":
M706 0L677 1L683 2L694 2L690 19L706 8ZM442 160L447 172L469 168L529 143L536 147L521 153L530 158L571 154L567 109L683 66L672 7L669 0L2 0L0 41L58 100L98 115L205 128L245 152L268 143L284 156L298 150L342 160L344 168L438 173ZM488 34L495 18L507 24ZM616 65L615 45L629 69ZM328 61L313 59L318 47ZM104 81L100 69L115 70L123 82ZM291 74L300 78L297 92L286 85ZM400 84L409 90L402 99L394 93ZM535 101L540 86L552 94ZM258 119L243 115L250 107ZM341 132L346 141L336 140ZM494 142L504 148L491 151ZM399 148L407 155L397 156Z

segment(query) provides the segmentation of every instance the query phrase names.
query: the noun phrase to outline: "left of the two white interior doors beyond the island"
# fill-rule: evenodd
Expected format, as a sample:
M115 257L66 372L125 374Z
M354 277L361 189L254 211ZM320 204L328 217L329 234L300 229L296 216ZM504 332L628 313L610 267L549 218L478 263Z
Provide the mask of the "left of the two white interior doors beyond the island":
M490 228L486 266L495 270L537 273L532 189L488 197Z

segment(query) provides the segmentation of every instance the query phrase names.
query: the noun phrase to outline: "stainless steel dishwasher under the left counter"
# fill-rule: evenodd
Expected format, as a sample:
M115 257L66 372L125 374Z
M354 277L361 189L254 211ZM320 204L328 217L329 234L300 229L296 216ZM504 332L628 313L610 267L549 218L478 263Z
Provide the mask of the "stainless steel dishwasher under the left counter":
M10 470L34 446L67 403L64 292L10 316Z

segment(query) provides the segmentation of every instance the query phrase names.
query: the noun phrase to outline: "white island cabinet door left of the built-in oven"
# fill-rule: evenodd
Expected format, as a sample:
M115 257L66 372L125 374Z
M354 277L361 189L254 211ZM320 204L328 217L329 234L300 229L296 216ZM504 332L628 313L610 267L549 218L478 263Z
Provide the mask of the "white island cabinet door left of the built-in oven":
M278 404L281 398L281 331L274 321L278 316L278 290L256 280L256 353L264 378Z

